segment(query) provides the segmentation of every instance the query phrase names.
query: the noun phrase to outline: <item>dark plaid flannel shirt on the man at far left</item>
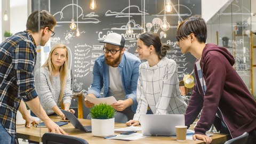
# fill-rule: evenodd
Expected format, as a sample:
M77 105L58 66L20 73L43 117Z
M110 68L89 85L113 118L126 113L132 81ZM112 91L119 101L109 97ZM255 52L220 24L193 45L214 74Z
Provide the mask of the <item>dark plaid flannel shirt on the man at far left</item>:
M20 100L37 97L32 73L35 63L36 44L27 31L0 44L0 122L12 136Z

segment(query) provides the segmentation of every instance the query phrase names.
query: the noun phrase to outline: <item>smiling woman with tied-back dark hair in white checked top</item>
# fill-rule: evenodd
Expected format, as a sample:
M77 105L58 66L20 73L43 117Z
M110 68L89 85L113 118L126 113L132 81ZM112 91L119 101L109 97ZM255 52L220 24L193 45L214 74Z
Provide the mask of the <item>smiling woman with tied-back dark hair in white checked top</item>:
M140 115L146 114L148 107L153 114L185 114L177 64L165 57L170 46L162 45L159 36L150 31L140 35L137 45L140 59L147 61L139 68L136 114L126 125L139 125Z

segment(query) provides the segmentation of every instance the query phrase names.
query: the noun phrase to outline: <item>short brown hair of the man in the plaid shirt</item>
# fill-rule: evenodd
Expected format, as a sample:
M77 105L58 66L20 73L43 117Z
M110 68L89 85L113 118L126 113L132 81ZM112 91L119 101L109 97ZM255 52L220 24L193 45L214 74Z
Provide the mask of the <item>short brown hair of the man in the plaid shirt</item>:
M45 27L49 27L50 29L52 29L56 25L57 25L57 22L55 18L52 16L52 14L45 10L41 10L41 11L34 11L29 15L26 27L27 27L27 30L31 30L33 33L36 33L40 29L43 29Z

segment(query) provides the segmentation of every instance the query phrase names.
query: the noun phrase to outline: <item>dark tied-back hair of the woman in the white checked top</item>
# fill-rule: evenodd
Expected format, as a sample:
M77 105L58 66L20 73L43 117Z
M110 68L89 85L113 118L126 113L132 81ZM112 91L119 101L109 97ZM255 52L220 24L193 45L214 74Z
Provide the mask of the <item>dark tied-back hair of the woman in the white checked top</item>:
M153 45L155 47L155 50L159 59L162 59L163 57L165 57L167 50L170 49L169 45L165 45L165 44L162 45L159 36L156 33L153 33L151 31L142 33L139 36L139 39L148 47L150 45Z

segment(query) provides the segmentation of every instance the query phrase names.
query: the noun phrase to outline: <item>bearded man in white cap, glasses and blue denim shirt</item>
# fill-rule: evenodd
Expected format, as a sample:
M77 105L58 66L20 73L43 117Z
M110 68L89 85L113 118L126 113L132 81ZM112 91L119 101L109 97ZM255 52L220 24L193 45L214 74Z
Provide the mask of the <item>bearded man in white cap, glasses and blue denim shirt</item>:
M125 39L117 33L110 33L106 39L101 55L93 66L93 82L87 95L93 98L114 96L117 100L113 107L128 119L133 119L137 109L136 91L141 61L135 55L126 52ZM84 99L85 106L91 108L93 103Z

